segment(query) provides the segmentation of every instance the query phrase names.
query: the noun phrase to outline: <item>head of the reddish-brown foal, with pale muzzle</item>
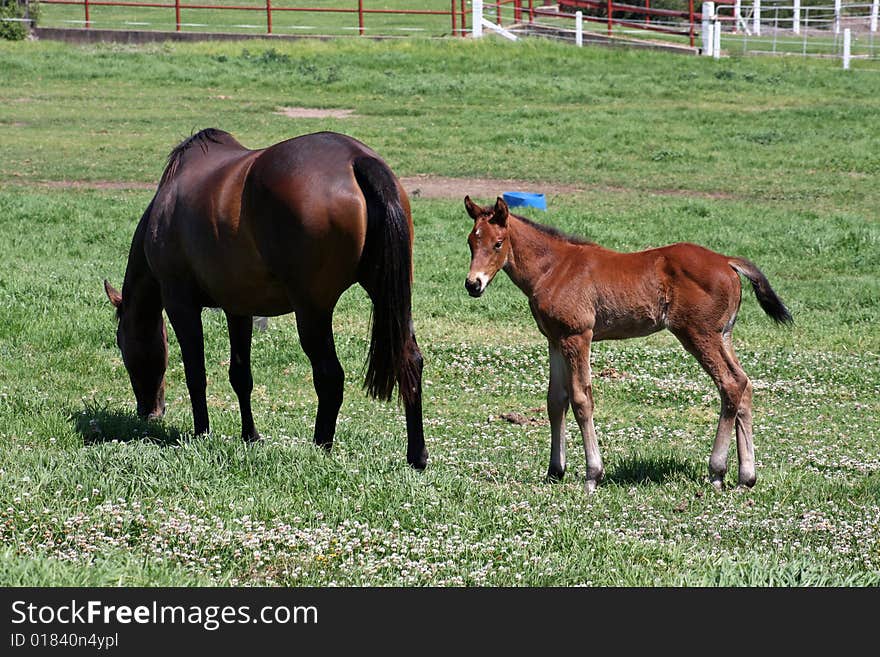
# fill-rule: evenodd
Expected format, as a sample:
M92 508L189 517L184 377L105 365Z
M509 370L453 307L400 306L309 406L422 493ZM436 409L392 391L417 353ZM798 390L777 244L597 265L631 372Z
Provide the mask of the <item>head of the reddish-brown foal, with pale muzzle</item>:
M504 199L498 197L495 205L481 208L464 197L464 207L474 220L474 229L468 235L471 249L471 270L465 279L464 287L472 297L478 297L507 262L510 244L507 240L507 219L510 212Z

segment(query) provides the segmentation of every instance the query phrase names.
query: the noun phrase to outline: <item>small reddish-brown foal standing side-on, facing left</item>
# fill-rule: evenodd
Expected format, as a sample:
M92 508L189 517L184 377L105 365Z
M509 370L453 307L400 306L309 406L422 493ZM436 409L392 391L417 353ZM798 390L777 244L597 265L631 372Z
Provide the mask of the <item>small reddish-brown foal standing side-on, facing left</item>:
M529 298L529 308L550 347L550 468L565 474L565 415L569 404L584 441L586 489L604 475L593 427L590 343L669 329L708 372L721 394L721 417L709 458L712 484L721 488L736 431L739 484L754 486L752 384L734 354L731 331L741 300L739 276L752 283L758 303L778 323L791 314L761 271L744 258L696 244L673 244L617 253L510 214L504 200L481 208L469 197L474 220L468 236L471 267L465 287L485 292L499 269Z

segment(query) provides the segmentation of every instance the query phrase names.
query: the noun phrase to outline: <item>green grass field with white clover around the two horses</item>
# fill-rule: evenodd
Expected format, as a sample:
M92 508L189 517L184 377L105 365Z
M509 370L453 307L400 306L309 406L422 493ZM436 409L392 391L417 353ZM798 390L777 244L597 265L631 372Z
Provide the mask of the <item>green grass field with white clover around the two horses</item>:
M880 584L873 72L494 39L19 42L0 60L0 584ZM291 106L355 116L278 113ZM717 393L668 334L596 345L606 481L584 495L569 416L566 480L544 483L546 345L503 274L465 293L461 198L413 198L424 473L405 465L402 409L361 392L359 288L335 317L347 380L329 456L310 444L292 317L254 340L263 443L237 438L210 311L212 434L191 435L173 338L168 414L138 421L101 282L121 285L143 184L209 126L252 147L346 132L399 175L464 190L574 184L526 214L620 250L689 240L752 259L795 317L775 327L744 290L757 486L734 490L735 465L728 490L709 485Z

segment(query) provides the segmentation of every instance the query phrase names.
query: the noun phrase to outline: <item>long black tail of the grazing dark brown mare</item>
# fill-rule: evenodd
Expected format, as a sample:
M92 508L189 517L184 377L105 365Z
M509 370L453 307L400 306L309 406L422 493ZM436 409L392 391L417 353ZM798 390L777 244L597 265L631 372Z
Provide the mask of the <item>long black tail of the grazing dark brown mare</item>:
M400 395L413 401L421 391L421 358L412 330L412 240L397 182L374 157L358 157L354 175L367 201L367 234L358 280L373 300L372 335L364 387L376 399Z

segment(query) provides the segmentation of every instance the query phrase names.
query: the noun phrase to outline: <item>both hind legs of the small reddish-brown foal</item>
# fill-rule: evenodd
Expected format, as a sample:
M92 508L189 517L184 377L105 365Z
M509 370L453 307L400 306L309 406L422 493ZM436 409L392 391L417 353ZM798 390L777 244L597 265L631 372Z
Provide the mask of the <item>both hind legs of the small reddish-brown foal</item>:
M733 354L730 334L687 331L674 333L684 348L694 355L712 377L721 395L721 414L712 455L709 457L709 478L712 485L718 489L724 485L727 454L736 426L739 484L754 486L756 475L755 450L752 444L752 384Z

